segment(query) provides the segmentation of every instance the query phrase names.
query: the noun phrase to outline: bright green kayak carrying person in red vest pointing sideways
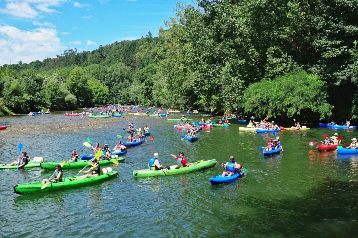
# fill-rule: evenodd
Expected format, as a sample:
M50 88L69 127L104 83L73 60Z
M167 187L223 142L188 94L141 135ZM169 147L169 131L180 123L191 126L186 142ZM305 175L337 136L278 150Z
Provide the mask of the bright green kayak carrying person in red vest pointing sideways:
M178 165L171 165L169 170L150 170L150 169L140 169L133 170L134 177L150 177L150 176L167 176L167 175L176 175L176 174L184 174L192 171L197 171L201 169L206 169L210 167L214 167L216 165L216 160L205 160L203 162L195 162L191 163L189 167L181 167L179 169L175 169Z

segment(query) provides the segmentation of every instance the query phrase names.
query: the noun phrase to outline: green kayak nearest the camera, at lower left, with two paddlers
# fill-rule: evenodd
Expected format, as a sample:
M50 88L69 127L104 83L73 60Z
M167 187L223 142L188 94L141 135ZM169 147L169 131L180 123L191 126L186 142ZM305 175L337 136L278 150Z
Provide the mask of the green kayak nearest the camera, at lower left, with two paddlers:
M114 178L115 176L118 176L118 171L112 171L107 174L102 174L97 177L89 177L86 179L80 179L80 180L69 180L70 178L77 178L82 175L76 176L76 177L69 177L64 178L61 183L51 183L46 186L46 188L41 189L42 182L35 182L35 183L27 183L27 184L16 184L14 186L14 192L17 194L31 194L31 193L44 193L48 191L55 191L55 190L62 190L62 189L71 189L76 187L81 187L84 185L90 185L90 184L98 184L99 182Z

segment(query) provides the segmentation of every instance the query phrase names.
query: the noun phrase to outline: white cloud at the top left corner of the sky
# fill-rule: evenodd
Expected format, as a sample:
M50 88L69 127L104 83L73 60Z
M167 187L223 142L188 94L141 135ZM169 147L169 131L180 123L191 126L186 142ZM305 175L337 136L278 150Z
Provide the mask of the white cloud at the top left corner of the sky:
M60 6L67 0L6 0L5 8L0 13L17 18L37 18L43 14L58 13L53 7Z

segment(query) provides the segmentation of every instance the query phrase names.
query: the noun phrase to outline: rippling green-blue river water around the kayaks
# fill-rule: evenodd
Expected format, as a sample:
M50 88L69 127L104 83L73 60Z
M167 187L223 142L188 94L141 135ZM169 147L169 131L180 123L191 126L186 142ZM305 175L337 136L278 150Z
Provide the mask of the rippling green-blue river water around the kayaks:
M15 184L40 181L53 171L0 170L0 237L356 237L358 157L318 152L308 143L334 132L350 143L357 130L310 126L308 131L276 132L284 151L263 157L258 147L267 145L272 133L239 131L245 124L234 120L189 142L180 140L184 133L165 118L81 119L63 113L0 117L0 125L11 125L0 131L0 162L17 160L19 143L30 157L46 161L69 159L73 150L90 154L82 145L87 137L112 149L117 135L128 135L122 130L125 119L152 127L155 140L129 148L125 163L112 165L118 178L96 186L18 195ZM175 115L180 116L170 118ZM195 121L202 116L190 115ZM145 169L155 152L166 166L176 164L169 154L181 151L189 162L226 162L233 155L249 173L216 186L209 178L222 173L220 165L189 174L133 178L133 170ZM66 170L64 176L77 172Z

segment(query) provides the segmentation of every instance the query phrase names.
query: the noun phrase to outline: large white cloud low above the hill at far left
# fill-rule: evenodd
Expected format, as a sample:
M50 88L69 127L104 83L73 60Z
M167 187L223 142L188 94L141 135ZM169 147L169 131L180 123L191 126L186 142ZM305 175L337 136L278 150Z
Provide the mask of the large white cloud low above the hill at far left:
M56 29L36 28L32 31L14 26L0 26L0 65L54 58L66 49Z

